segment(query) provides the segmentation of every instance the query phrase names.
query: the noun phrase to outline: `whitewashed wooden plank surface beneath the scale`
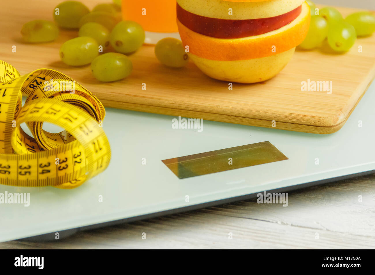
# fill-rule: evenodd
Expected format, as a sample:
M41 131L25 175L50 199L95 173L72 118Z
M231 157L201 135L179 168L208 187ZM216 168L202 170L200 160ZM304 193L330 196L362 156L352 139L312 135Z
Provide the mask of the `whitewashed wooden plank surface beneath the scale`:
M5 248L375 248L375 174L291 192L288 207L252 199Z

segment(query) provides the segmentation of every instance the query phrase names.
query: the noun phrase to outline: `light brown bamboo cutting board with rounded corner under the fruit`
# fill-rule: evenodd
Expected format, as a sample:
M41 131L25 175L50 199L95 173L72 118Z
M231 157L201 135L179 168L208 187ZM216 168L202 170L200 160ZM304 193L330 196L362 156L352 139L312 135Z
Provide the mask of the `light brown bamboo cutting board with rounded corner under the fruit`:
M205 76L192 62L181 69L163 66L155 58L153 46L143 46L130 56L133 72L127 79L101 83L92 76L90 65L70 67L60 61L60 46L77 37L77 31L62 30L51 43L22 42L22 25L34 19L52 20L52 11L59 2L3 1L0 59L21 74L38 68L61 71L93 92L106 107L330 134L344 125L375 76L373 35L358 39L346 54L296 51L273 79L250 85L233 83L233 90L228 89L227 82ZM92 8L105 1L83 2ZM357 11L338 9L344 16ZM16 52L12 52L13 46ZM332 81L332 94L302 91L303 81Z

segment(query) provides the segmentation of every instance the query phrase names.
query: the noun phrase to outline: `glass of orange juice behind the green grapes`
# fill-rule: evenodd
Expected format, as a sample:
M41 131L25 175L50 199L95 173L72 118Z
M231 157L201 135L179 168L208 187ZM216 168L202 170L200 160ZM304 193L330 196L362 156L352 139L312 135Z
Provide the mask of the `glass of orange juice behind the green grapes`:
M122 0L124 20L132 20L145 30L145 43L156 44L165 37L180 39L175 0Z

